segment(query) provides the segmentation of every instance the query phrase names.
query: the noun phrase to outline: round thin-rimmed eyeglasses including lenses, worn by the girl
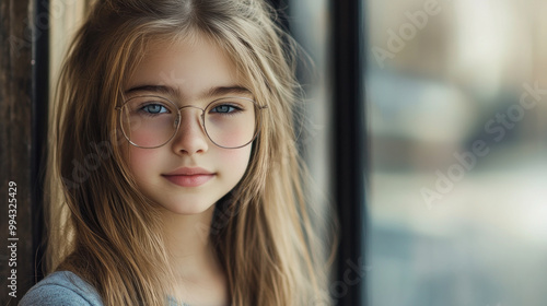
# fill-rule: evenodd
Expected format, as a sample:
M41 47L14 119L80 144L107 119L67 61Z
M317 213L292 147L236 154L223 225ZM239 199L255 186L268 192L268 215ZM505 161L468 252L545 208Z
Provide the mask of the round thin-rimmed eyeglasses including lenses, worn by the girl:
M183 109L201 110L202 130L212 143L224 149L243 148L258 134L260 106L246 97L222 97L209 103L206 108L194 105L177 107L165 97L140 95L128 98L119 110L119 121L124 136L135 146L160 148L177 133Z

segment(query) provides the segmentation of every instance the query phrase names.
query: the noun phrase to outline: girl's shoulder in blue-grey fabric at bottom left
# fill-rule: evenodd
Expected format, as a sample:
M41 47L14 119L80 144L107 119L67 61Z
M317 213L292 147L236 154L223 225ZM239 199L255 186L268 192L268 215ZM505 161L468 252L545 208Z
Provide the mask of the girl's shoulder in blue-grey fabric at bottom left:
M80 276L69 271L58 271L34 285L19 305L102 306L103 303L96 290Z

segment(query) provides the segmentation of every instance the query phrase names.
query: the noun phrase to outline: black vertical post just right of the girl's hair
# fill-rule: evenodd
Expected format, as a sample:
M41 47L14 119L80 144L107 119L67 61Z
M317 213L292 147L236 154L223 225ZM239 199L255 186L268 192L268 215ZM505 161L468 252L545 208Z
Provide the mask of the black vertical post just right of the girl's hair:
M335 198L340 217L337 281L330 293L341 306L366 305L363 1L330 1ZM358 278L348 278L357 273Z

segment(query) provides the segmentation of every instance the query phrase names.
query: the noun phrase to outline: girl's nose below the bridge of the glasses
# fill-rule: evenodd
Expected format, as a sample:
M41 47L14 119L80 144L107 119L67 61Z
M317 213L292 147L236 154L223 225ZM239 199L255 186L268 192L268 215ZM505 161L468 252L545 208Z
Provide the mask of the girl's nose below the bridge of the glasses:
M181 126L173 139L173 150L176 154L193 155L209 150L209 139L201 126L201 108L183 107L181 109Z

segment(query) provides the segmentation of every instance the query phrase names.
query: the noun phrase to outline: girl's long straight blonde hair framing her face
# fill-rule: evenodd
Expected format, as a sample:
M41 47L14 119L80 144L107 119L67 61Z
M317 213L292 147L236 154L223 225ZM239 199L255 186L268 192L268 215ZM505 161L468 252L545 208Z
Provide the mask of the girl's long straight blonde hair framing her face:
M328 298L319 222L310 217L292 128L296 48L275 17L258 0L106 0L93 7L57 89L47 180L49 270L82 276L105 305L165 303L173 273L158 212L125 163L114 109L148 44L199 33L225 51L268 107L247 172L217 203L210 227L232 305Z

